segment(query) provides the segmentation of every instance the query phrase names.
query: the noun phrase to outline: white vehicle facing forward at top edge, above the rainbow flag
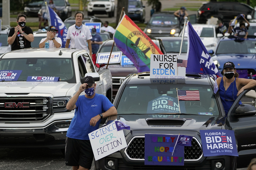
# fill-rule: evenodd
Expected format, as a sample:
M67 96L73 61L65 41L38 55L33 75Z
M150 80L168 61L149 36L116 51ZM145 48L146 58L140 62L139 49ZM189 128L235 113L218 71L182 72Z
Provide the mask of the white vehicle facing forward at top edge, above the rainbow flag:
M115 14L115 0L90 0L87 5L87 15L107 14L113 17Z

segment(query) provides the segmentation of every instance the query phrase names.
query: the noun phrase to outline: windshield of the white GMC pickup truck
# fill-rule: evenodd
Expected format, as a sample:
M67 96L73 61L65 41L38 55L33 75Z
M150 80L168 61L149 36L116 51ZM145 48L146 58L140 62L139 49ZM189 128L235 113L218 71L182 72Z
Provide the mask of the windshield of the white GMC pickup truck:
M0 70L21 70L17 81L28 76L59 77L59 81L75 83L74 64L67 58L13 58L1 59Z

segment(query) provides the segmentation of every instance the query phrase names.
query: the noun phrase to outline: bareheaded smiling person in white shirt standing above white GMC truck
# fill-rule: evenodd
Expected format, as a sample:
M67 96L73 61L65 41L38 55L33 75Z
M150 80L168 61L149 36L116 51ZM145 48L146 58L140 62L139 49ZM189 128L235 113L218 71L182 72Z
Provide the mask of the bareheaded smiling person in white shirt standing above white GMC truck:
M66 48L78 48L78 49L85 49L90 51L90 56L92 57L92 50L91 50L91 31L88 26L82 24L84 19L84 14L81 11L77 11L75 13L75 24L69 27L67 33L67 41L66 41ZM87 47L88 44L88 47Z

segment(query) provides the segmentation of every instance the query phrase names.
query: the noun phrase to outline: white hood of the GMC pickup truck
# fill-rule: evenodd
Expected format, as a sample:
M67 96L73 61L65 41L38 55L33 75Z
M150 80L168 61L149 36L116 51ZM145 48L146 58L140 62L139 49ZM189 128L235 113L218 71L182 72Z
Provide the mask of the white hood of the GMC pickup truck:
M68 82L0 82L1 93L51 93L54 97L66 96L73 86Z

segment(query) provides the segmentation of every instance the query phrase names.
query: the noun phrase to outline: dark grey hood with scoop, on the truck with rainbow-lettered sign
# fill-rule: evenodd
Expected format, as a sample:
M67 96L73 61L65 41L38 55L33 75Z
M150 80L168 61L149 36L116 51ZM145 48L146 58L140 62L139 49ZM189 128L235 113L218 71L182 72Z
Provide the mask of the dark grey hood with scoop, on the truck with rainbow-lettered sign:
M155 118L154 118L155 117ZM176 118L173 118L176 117ZM117 120L130 126L130 130L182 130L197 131L222 129L224 118L204 115L117 115ZM170 122L165 122L170 120ZM171 123L171 121L175 123ZM179 124L179 125L177 125ZM129 130L126 130L129 133ZM126 134L125 134L126 135Z

